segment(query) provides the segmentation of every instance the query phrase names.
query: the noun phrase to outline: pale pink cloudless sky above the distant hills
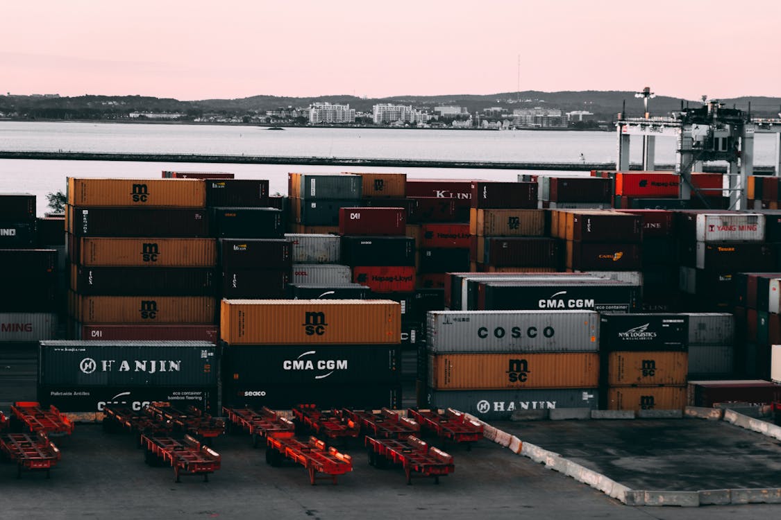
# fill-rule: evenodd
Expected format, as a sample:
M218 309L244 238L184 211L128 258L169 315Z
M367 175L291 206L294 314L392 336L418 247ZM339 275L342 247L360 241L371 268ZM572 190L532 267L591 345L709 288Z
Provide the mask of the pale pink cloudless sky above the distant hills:
M0 94L781 97L781 0L3 0Z

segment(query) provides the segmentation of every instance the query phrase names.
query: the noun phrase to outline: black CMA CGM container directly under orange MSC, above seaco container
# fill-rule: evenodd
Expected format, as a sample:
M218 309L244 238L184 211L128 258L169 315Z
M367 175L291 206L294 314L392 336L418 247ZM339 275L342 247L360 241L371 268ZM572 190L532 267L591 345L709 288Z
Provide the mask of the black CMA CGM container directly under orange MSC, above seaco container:
M398 383L398 345L240 345L223 350L223 379L257 385L344 387Z

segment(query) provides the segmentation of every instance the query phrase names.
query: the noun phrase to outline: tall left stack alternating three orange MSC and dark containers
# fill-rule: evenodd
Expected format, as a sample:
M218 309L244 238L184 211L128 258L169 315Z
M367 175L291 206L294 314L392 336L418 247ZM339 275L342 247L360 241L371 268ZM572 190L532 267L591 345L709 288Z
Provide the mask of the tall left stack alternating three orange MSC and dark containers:
M68 179L70 334L216 339L216 240L197 179Z

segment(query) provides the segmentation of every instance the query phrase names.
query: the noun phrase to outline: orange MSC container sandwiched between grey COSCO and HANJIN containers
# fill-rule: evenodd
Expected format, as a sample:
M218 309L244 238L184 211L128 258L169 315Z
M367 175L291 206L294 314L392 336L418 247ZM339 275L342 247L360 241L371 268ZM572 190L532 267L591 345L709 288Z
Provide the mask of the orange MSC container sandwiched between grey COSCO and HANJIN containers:
M429 356L429 386L436 390L594 388L599 354L439 354Z

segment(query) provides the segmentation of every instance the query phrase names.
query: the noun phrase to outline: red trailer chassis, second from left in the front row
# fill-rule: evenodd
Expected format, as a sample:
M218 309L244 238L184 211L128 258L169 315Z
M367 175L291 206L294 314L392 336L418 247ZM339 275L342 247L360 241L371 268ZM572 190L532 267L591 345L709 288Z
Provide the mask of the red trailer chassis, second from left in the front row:
M185 435L184 440L178 440L144 433L141 435L141 444L146 447L148 464L155 464L157 458L173 466L177 483L181 482L180 476L188 475L203 475L204 482L209 482L209 473L216 472L222 460L219 453L189 435Z

